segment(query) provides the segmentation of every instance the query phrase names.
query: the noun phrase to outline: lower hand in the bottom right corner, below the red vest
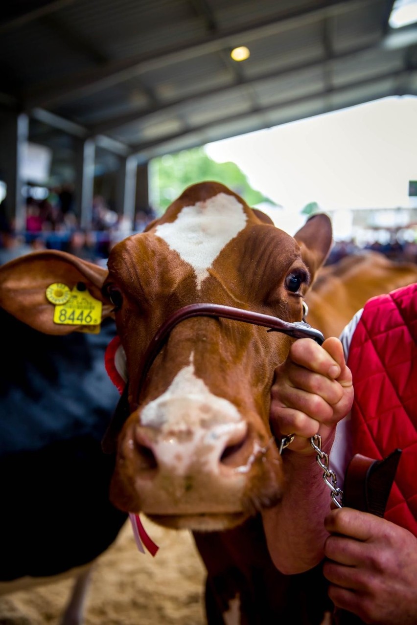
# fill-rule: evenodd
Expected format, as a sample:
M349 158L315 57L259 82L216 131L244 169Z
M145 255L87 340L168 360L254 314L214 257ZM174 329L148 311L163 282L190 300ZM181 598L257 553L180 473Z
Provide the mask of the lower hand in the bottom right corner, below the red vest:
M324 576L335 606L366 623L417 622L417 538L380 517L344 507L324 525Z

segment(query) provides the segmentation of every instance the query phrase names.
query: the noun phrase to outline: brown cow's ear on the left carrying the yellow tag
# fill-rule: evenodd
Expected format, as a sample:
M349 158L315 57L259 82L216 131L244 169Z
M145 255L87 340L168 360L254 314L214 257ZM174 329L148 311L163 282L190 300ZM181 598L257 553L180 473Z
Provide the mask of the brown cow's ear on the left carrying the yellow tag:
M113 309L101 293L107 274L103 267L66 252L27 254L0 267L0 306L45 334L69 334L79 326L54 323L54 304L46 298L46 289L58 282L72 290L84 282L89 293L104 303L101 317L104 319L111 316Z

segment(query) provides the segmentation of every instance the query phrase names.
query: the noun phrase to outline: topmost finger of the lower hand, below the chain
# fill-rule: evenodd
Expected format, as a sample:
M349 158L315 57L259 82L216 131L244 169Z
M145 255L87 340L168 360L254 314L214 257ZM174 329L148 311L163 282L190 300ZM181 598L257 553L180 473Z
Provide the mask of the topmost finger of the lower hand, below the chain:
M331 534L342 534L364 542L373 537L380 521L379 517L368 512L343 507L329 512L324 519L324 527Z

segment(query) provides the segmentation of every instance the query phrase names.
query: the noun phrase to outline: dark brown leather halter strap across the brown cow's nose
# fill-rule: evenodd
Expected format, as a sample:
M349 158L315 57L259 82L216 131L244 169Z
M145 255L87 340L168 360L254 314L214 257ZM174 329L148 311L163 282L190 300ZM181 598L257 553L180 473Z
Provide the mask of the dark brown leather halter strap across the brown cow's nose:
M169 334L173 331L174 327L179 322L191 317L216 317L218 319L232 319L233 321L243 321L244 323L250 323L255 326L268 327L268 332L283 332L295 339L310 338L318 342L321 345L324 341L324 336L319 330L309 326L305 321L289 322L279 319L279 317L273 317L268 314L261 314L260 312L247 311L243 308L235 308L233 306L223 306L223 304L189 304L179 308L178 311L173 312L171 316L164 321L159 329L154 334L153 339L149 342L148 349L144 353L143 359L140 365L140 377L138 384L138 396L143 387L146 376L149 369L153 365L154 359L161 351L164 342ZM115 439L118 435L124 421L129 416L129 404L128 404L128 383L120 398L116 411L113 414L111 422L109 424L104 439L102 441L103 450L107 453L111 453L115 450Z

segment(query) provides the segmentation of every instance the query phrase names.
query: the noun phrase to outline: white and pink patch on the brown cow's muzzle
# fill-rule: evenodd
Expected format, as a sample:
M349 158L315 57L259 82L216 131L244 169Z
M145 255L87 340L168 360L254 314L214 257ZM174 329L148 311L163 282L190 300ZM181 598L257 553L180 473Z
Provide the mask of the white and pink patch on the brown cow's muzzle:
M154 454L178 474L196 461L218 472L219 456L231 434L246 432L236 406L214 395L196 376L193 356L168 389L144 407L141 425L158 431Z

